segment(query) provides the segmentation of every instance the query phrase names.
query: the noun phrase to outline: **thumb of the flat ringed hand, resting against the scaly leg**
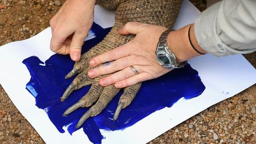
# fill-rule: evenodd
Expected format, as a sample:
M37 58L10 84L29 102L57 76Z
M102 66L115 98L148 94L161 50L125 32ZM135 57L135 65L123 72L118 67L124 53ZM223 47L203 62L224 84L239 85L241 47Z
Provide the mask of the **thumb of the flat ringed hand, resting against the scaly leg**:
M146 25L149 25L149 24L144 24L139 22L128 22L119 30L119 33L123 35L138 34L144 30Z

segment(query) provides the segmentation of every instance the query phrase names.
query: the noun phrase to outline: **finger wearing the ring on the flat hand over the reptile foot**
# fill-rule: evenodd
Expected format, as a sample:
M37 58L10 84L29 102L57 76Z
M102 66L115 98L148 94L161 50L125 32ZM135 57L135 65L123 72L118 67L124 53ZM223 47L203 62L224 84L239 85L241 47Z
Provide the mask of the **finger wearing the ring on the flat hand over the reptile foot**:
M140 71L140 69L137 69L137 71ZM124 79L130 78L131 76L134 76L134 75L135 75L135 72L133 72L133 70L129 66L129 67L123 69L122 71L113 73L110 76L107 76L105 78L100 79L99 82L100 82L100 85L105 87L107 85L111 85L111 84L114 84L116 82L123 81Z

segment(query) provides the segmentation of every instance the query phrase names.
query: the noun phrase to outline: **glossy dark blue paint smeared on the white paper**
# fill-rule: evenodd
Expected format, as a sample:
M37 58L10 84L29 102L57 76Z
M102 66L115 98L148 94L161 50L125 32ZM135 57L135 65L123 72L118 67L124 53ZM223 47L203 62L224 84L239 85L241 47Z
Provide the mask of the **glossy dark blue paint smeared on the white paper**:
M103 40L110 28L103 29L94 23L92 31L97 39L85 41L83 53ZM88 108L79 108L68 117L63 117L62 114L68 107L79 101L90 88L88 86L72 92L64 102L60 102L63 92L73 81L73 78L65 79L65 75L71 71L74 62L69 56L56 54L45 63L36 56L28 57L23 60L23 63L31 75L26 89L36 98L37 107L46 111L60 133L64 133L65 130L62 127L67 126L68 132L72 135L78 130L75 128L76 123ZM101 135L100 129L123 130L157 110L171 107L180 98L184 97L188 100L199 96L205 87L198 74L187 64L182 69L175 69L160 78L143 82L132 104L121 111L117 121L113 121L114 111L123 92L120 91L103 112L89 118L79 129L84 130L92 143L101 143L104 136Z

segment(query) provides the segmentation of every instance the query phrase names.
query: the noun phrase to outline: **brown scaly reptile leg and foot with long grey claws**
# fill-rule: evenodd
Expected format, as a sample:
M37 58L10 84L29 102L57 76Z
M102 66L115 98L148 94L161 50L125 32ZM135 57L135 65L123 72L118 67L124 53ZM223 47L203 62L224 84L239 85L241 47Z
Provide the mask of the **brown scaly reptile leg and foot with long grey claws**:
M90 107L97 101L87 113L81 117L76 125L78 128L88 119L88 117L96 116L101 113L113 97L120 91L120 89L115 88L114 85L109 85L107 87L100 86L98 81L100 78L107 75L91 79L87 76L87 72L89 69L92 69L92 67L88 65L89 59L121 46L135 37L132 34L121 36L118 33L118 30L124 24L130 21L137 21L171 28L178 16L181 3L181 0L98 0L97 4L102 7L116 9L116 23L104 40L92 47L87 53L84 53L79 62L75 63L73 70L66 76L66 78L71 78L79 73L72 84L69 85L64 92L61 101L64 101L73 90L85 87L86 85L91 85L91 88L78 103L69 107L68 110L63 113L63 116L72 113L72 111L79 107ZM119 106L114 114L114 120L119 116L120 110L127 107L127 105L132 102L133 98L135 98L140 85L141 83L124 88L123 95L121 95L119 100Z

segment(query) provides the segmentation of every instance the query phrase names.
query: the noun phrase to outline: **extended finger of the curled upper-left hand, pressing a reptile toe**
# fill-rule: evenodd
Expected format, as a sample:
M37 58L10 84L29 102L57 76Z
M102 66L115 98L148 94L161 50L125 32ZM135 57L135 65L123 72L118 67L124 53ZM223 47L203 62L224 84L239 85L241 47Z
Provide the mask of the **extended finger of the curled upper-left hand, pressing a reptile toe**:
M73 61L78 61L80 59L82 44L84 44L85 37L87 37L87 36L82 33L76 32L73 34L73 37L71 40L71 45L70 45L70 50L69 50L69 54Z

